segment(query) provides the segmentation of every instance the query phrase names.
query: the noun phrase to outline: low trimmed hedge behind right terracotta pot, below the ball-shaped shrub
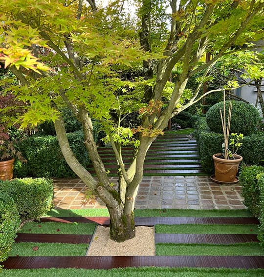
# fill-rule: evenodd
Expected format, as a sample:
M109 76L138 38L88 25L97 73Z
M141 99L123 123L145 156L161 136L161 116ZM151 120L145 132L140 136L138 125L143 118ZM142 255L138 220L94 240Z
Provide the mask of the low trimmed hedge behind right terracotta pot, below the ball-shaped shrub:
M201 165L207 172L214 172L214 161L212 156L222 152L223 135L211 132L205 119L198 120L197 130L194 136L198 143L198 152ZM256 131L250 136L244 136L239 154L246 164L259 164L264 157L264 132Z

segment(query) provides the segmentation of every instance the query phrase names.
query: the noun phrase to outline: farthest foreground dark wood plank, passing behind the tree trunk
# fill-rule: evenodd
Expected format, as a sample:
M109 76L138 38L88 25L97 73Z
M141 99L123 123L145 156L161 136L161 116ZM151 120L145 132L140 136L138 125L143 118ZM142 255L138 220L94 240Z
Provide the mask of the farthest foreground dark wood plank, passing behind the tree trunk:
M42 222L84 222L109 225L108 217L61 217L41 218ZM135 218L137 226L177 225L177 224L259 224L258 218L194 218L194 217L157 217L157 218Z

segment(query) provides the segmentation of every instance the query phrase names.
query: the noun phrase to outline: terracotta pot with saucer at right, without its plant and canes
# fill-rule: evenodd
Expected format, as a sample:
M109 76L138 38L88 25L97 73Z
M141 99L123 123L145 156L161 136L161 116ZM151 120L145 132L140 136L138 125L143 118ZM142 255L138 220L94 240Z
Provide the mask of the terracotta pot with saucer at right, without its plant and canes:
M242 161L242 156L234 155L235 159L224 159L222 153L213 155L215 163L215 175L211 179L219 183L237 183L238 178L237 173L239 170L240 162Z

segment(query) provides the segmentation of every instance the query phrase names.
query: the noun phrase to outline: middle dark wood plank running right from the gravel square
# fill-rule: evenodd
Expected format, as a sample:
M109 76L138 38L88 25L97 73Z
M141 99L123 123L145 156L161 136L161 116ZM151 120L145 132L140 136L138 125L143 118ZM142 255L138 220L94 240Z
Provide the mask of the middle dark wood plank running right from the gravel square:
M258 241L257 235L248 234L155 234L156 243L233 244Z

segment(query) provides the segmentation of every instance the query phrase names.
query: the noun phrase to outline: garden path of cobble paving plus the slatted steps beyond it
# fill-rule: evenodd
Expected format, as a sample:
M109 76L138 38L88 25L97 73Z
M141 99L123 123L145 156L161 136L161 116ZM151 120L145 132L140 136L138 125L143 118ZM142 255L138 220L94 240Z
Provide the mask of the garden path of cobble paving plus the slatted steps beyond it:
M101 158L114 177L114 154L110 147L99 147ZM124 161L129 162L132 148L125 148ZM93 169L90 168L90 172ZM100 199L82 206L86 187L80 179L54 179L55 208L105 208ZM137 209L244 209L239 184L216 184L202 171L196 140L190 135L167 132L152 144L144 164Z

